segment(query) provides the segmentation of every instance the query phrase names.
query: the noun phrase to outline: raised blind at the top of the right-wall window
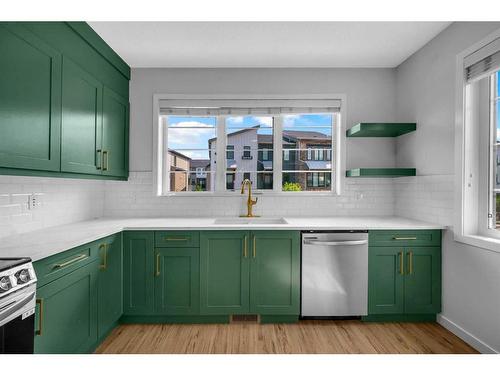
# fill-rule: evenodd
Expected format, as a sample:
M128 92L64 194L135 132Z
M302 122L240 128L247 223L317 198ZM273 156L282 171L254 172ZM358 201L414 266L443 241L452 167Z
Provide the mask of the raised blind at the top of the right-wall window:
M481 79L500 69L500 38L464 59L467 82Z

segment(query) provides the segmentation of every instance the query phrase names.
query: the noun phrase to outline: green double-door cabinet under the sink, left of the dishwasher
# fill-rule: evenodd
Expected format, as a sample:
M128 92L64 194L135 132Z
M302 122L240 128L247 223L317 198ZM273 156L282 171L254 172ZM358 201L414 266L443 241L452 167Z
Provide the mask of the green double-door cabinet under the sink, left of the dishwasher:
M300 314L300 234L201 233L202 314Z

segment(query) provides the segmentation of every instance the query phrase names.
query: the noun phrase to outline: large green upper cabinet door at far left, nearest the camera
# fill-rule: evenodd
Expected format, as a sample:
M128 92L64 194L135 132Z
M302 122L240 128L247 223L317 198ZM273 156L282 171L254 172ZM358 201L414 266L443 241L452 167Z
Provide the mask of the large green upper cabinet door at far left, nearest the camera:
M61 55L0 23L0 167L59 171Z

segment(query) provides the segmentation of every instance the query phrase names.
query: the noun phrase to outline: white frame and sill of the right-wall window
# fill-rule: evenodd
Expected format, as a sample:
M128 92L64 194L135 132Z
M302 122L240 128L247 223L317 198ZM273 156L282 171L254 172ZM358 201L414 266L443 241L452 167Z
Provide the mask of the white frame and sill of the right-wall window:
M465 59L500 38L500 29L456 57L454 239L500 252L500 231L488 228L490 177L490 83L466 87ZM485 93L487 93L485 95ZM481 99L479 99L481 98ZM488 101L485 102L485 99ZM474 108L474 111L471 110ZM487 119L487 120L486 120ZM488 121L486 130L485 121ZM483 128L478 132L480 124Z

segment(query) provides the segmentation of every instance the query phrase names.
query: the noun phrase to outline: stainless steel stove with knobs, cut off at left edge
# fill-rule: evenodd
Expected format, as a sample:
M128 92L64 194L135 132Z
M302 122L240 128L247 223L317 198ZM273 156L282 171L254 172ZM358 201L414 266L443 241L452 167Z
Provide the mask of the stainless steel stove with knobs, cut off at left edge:
M30 258L0 258L0 354L33 353L36 275Z

